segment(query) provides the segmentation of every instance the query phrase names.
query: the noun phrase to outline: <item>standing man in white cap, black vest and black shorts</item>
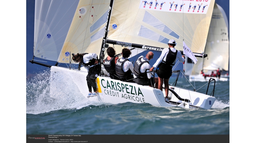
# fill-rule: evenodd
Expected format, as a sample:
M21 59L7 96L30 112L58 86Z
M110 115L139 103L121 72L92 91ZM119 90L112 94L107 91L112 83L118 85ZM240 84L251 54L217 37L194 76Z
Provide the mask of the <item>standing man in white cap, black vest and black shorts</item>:
M174 48L174 46L176 45L177 43L175 42L175 40L169 40L169 48L163 49L161 56L150 69L150 71L152 71L154 68L157 67L156 72L158 73L158 89L163 91L162 85L164 83L165 101L167 103L169 103L169 78L172 75L172 67L174 66L177 58L179 58L181 63L185 61L185 56L182 56L181 52Z

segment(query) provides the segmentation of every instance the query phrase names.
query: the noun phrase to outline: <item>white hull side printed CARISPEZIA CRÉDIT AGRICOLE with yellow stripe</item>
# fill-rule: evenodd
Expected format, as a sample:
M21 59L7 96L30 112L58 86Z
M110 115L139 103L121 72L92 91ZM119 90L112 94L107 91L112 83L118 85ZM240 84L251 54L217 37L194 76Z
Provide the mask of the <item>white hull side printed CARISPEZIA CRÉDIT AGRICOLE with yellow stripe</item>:
M161 106L156 96L164 100L163 92L152 87L139 86L136 83L122 82L104 77L98 77L96 81L101 99L106 103L118 104L133 102ZM155 92L159 95L155 95Z

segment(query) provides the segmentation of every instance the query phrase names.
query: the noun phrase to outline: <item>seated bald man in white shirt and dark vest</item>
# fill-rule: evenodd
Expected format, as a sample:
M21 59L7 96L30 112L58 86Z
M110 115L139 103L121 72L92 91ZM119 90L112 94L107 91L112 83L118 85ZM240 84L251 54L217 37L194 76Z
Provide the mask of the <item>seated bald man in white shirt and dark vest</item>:
M153 56L153 52L148 52L148 54L146 54L146 57L140 56L138 60L136 60L136 62L134 63L133 77L135 78L134 80L137 84L143 85L143 81L145 78L144 85L153 86L154 77L151 77L151 73L149 71L151 66L148 63L149 60L153 59ZM146 71L146 69L148 70ZM145 71L148 72L147 77L145 77ZM158 77L155 77L155 83L158 86Z

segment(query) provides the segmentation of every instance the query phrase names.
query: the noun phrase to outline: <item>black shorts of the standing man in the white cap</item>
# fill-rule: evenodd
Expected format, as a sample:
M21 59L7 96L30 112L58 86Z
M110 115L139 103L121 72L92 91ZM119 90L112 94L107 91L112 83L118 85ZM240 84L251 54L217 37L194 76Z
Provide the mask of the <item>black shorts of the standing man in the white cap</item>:
M158 77L168 79L172 75L172 66L168 66L165 63L160 63L156 69L156 72Z

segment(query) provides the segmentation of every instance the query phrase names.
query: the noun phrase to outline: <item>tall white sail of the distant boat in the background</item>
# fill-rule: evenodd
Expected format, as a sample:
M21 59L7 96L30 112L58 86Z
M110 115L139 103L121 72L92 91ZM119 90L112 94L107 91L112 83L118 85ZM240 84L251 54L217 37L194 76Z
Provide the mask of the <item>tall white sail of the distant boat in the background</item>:
M220 6L217 4L214 4L212 20L205 48L205 53L208 54L208 60L204 60L204 70L217 70L218 68L220 68L220 70L228 70L228 28L219 7Z

